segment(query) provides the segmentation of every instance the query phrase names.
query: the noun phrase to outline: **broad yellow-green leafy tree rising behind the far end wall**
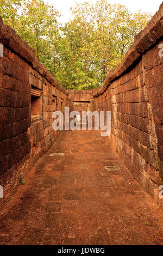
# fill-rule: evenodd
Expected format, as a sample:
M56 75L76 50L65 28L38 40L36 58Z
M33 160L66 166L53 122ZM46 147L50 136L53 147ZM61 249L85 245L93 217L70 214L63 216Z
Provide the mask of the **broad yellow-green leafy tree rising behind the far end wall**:
M106 0L77 4L72 19L62 27L58 45L60 66L57 78L70 89L91 89L102 85L108 70L120 64L151 15L131 13Z

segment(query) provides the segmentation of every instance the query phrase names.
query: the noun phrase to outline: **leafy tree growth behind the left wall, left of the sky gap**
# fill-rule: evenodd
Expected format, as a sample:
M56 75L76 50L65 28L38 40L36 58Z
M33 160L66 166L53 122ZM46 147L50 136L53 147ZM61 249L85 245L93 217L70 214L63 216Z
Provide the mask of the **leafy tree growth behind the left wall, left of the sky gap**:
M3 21L34 48L40 62L54 74L55 40L59 36L59 12L42 0L1 0Z

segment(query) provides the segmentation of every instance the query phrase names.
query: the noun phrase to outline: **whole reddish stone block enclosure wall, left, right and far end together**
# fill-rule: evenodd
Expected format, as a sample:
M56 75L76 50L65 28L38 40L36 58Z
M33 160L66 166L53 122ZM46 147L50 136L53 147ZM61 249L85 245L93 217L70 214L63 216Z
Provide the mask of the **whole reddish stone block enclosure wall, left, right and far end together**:
M52 129L52 113L70 106L80 113L111 111L109 143L143 189L158 198L163 183L162 38L163 4L99 90L66 91L0 19L0 184L16 184L18 174L51 147L59 136Z

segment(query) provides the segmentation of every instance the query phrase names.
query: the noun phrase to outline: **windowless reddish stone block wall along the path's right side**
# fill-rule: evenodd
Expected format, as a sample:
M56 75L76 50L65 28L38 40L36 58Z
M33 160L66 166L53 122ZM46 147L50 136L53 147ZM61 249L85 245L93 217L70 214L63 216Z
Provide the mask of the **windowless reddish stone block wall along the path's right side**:
M156 198L158 185L163 184L162 36L163 4L94 95L95 109L111 111L109 143L143 189Z

